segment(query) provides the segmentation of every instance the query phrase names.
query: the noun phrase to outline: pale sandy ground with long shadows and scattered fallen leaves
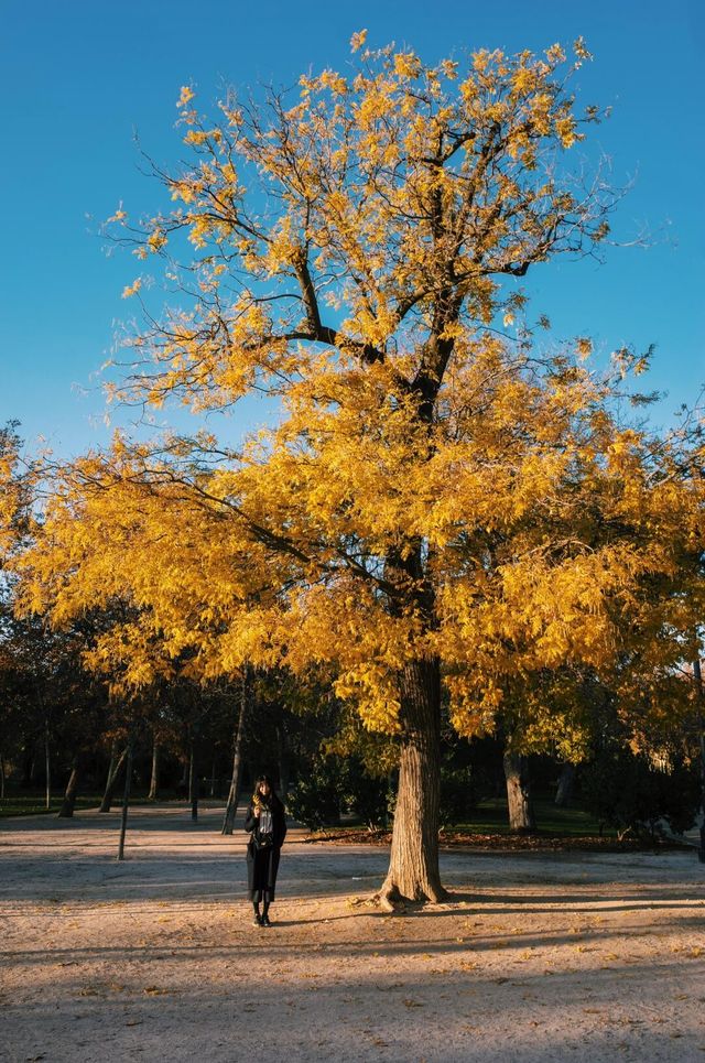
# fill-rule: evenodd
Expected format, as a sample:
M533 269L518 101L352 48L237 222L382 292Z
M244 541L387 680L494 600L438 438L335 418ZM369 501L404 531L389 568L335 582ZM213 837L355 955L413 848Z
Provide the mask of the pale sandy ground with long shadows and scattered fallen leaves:
M705 1060L695 854L453 850L382 915L384 848L290 832L275 925L210 810L0 822L0 1060Z

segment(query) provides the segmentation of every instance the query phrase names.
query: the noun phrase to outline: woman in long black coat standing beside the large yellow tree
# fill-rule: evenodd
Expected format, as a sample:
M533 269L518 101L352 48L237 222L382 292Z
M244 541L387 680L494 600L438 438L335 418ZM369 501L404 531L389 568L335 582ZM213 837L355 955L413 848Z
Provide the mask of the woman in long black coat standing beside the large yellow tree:
M254 909L253 925L271 926L269 905L274 900L279 856L286 837L286 821L284 805L274 793L268 775L260 775L254 783L245 829L251 835L247 846L247 883Z

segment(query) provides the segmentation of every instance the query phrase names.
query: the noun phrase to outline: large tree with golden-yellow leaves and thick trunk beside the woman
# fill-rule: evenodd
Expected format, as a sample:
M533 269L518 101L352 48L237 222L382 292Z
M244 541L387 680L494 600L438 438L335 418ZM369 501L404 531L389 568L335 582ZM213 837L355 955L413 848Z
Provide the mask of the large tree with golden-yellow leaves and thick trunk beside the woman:
M444 893L442 681L471 735L522 676L607 666L629 588L672 565L674 505L699 534L698 485L619 429L587 341L543 356L523 319L517 278L607 232L612 197L565 162L598 118L568 88L587 57L388 47L214 122L184 88L192 162L155 167L175 206L113 219L178 304L126 290L145 318L116 390L196 413L265 392L281 416L238 447L228 422L118 438L67 471L30 562L58 620L128 595L133 650L158 632L203 674L332 668L400 747L388 903Z

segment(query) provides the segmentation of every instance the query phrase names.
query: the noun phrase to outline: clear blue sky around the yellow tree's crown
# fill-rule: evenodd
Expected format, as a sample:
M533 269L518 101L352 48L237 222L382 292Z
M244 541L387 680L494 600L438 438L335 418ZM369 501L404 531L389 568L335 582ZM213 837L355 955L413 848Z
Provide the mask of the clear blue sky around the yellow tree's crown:
M581 99L612 106L594 135L615 184L634 182L616 235L646 226L652 242L608 249L604 265L542 267L529 290L558 336L589 334L600 357L654 343L647 387L669 398L652 416L671 423L705 382L704 10L702 0L6 0L0 420L19 419L28 443L44 435L64 455L107 438L91 375L129 312L120 294L135 269L129 254L106 257L97 229L120 200L132 215L162 203L138 171L133 132L173 162L182 85L203 105L224 84L291 85L310 66L344 66L367 28L371 46L393 40L430 62L585 37L595 59Z

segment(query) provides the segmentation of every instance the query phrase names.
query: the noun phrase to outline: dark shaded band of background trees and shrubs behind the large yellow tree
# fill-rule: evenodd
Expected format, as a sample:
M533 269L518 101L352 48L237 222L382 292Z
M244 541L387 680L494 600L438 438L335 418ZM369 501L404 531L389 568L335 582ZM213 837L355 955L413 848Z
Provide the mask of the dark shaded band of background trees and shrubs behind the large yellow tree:
M52 630L41 618L14 616L10 589L7 583L0 625L0 804L43 787L47 810L63 795L62 817L74 814L82 792L100 793L100 811L109 812L124 790L129 759L132 792L138 788L142 799L181 799L194 820L199 799L225 802L226 834L243 787L261 771L311 828L336 825L345 813L370 829L393 821L394 744L365 734L323 676L308 690L283 673L249 672L210 686L162 680L126 702L85 664L100 619ZM513 752L501 729L458 738L446 709L442 828L467 823L481 801L503 796L510 829L533 833L541 826L536 783L558 806L574 802L577 789L600 832L614 826L620 836L654 838L666 826L692 826L703 784L697 726L634 753L614 697L594 676L587 685L595 726L578 764L555 752Z

